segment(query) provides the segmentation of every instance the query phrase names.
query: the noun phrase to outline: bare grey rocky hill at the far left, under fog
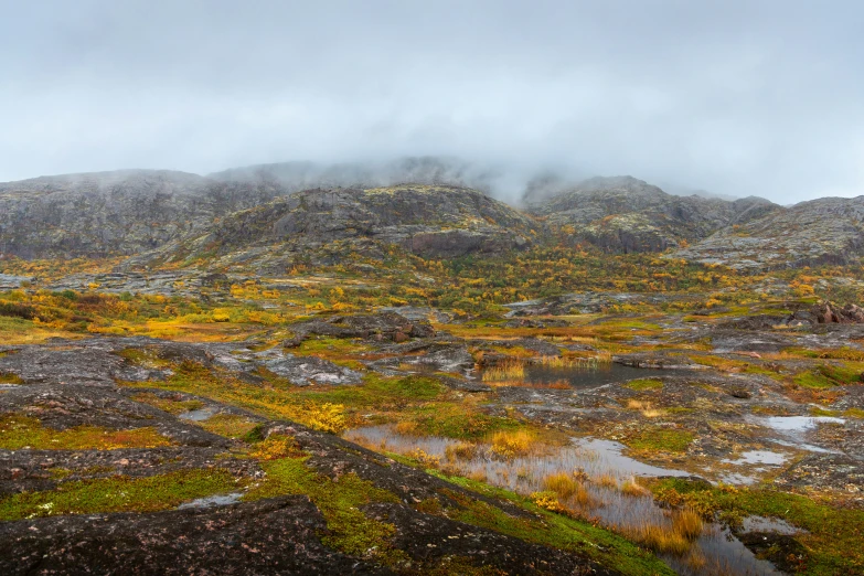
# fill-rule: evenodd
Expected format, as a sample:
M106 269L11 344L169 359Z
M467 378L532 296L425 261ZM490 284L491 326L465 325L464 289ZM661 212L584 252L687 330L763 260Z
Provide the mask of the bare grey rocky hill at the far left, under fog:
M42 177L0 184L0 254L135 254L282 193L168 170Z

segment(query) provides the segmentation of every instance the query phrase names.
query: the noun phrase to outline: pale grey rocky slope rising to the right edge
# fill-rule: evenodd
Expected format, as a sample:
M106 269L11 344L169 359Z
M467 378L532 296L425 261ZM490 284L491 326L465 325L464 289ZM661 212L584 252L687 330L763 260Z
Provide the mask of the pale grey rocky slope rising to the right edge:
M864 196L823 198L727 226L674 256L738 269L843 263L864 247Z

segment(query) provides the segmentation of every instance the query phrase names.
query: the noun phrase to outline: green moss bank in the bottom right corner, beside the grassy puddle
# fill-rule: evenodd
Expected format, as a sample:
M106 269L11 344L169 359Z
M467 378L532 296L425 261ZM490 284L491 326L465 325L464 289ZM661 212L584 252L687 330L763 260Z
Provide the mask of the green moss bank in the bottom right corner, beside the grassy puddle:
M704 482L664 479L651 484L660 500L695 502L733 518L779 518L808 531L793 537L808 551L801 574L828 576L864 573L864 511L835 508L810 498L770 489L724 489Z

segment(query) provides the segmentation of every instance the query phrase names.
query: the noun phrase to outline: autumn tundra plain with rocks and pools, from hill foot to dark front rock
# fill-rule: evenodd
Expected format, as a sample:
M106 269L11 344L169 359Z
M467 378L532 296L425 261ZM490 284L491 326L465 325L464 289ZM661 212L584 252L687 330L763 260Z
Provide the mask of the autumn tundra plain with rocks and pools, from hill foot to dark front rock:
M0 260L34 278L0 291L4 555L21 523L302 497L303 537L373 572L737 574L719 534L755 574L864 573L864 328L817 318L862 263L354 256L138 289Z

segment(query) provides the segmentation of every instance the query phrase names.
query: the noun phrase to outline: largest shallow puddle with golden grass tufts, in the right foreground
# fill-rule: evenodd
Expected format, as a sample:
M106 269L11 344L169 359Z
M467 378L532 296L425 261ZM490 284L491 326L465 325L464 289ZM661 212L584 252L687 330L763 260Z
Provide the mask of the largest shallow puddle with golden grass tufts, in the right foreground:
M669 510L658 506L650 494L623 493L621 487L634 476L640 477L685 477L682 470L659 468L629 458L621 454L623 445L596 438L577 438L554 454L518 457L512 460L493 458L484 449L478 449L474 456L465 459L448 460L448 447L459 445L457 440L440 437L404 436L390 426L367 426L344 434L344 438L372 446L384 451L408 454L420 449L429 456L456 467L460 473L469 477L484 477L492 486L506 488L520 494L545 489L544 479L554 473L573 474L580 471L593 481L584 482L585 494L563 501L575 510L599 519L607 527L627 531L654 524L671 527ZM452 451L452 450L451 450ZM766 457L769 458L769 457ZM577 501L580 500L580 501ZM585 504L588 501L590 504ZM716 524L706 524L703 534L696 540L695 547L702 551L707 567L723 574L749 574L754 576L775 576L782 573L766 562L758 559L728 530ZM705 572L690 572L683 558L662 556L679 574L696 575Z

